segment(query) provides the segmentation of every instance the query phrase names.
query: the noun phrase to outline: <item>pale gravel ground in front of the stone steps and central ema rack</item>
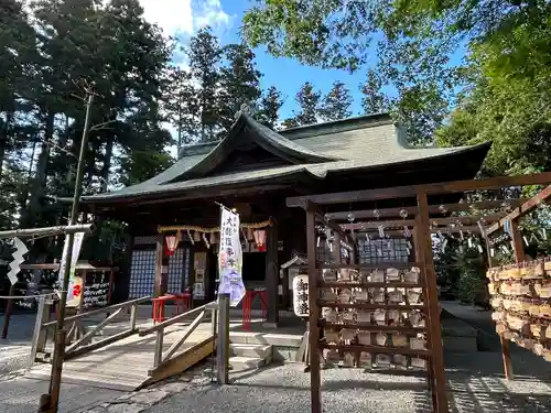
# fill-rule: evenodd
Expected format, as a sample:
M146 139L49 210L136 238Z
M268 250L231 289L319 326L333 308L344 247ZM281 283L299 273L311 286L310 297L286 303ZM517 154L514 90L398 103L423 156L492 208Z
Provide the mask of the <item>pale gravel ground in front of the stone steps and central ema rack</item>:
M515 358L517 378L507 383L498 352L447 355L451 411L532 413L551 411L549 363L528 368ZM533 360L532 360L533 361ZM529 370L529 371L527 371ZM269 367L234 377L230 385L192 383L147 413L304 413L310 411L310 374L300 365ZM323 410L331 413L431 412L423 377L366 373L359 369L322 371Z

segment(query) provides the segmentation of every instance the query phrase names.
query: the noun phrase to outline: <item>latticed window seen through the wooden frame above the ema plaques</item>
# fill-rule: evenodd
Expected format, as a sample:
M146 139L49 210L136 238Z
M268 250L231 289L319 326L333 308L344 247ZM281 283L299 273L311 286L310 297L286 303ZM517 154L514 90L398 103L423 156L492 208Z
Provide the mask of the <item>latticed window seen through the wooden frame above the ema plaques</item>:
M408 262L408 240L406 238L370 239L358 237L359 263Z

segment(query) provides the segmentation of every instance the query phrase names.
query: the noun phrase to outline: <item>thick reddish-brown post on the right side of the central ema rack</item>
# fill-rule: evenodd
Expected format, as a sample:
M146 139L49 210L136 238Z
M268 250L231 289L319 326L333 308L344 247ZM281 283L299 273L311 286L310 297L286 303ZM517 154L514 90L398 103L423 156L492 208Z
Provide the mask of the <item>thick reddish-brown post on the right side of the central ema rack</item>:
M437 296L436 272L434 270L434 261L432 257L432 239L429 226L429 202L426 193L419 191L418 198L418 217L417 217L417 236L419 243L419 260L421 257L424 259L421 271L424 272L424 282L426 291L426 306L429 308L429 335L431 335L432 344L432 374L435 380L436 390L436 405L433 406L435 413L447 413L447 394L446 394L446 374L444 370L444 354L442 344L442 330L440 323L440 303Z

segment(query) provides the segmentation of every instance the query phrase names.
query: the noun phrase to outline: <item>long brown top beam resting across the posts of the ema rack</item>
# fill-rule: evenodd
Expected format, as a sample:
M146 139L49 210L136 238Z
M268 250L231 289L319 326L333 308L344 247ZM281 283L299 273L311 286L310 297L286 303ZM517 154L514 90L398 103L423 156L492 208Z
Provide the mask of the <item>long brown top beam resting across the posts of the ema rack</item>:
M287 206L302 207L306 200L317 205L348 204L366 200L413 198L418 191L425 194L462 193L469 191L499 189L507 186L547 185L551 183L551 172L532 175L498 176L486 180L453 181L428 185L406 185L390 188L350 191L287 198Z

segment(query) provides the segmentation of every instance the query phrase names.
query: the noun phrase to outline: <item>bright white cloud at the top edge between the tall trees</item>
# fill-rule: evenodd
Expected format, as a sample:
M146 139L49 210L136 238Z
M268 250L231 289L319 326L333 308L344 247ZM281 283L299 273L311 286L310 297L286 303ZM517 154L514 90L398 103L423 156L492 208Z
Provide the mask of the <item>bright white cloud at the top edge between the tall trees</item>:
M233 22L220 0L140 0L140 3L145 20L156 23L166 35L192 35L205 25L225 30Z

